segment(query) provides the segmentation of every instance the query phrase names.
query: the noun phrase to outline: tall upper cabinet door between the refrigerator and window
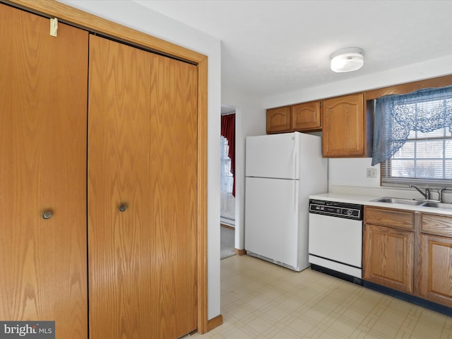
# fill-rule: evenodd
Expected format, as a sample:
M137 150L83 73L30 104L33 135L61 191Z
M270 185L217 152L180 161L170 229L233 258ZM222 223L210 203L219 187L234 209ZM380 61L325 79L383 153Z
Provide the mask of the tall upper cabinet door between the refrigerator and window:
M364 157L364 95L323 101L323 157Z

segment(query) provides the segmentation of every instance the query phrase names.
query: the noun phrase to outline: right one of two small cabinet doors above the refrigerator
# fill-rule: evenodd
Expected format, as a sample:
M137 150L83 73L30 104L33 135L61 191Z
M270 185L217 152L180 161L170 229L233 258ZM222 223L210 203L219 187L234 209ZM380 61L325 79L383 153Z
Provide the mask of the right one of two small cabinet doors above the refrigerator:
M293 105L292 129L295 131L306 131L321 129L320 122L320 102L306 102L304 104Z

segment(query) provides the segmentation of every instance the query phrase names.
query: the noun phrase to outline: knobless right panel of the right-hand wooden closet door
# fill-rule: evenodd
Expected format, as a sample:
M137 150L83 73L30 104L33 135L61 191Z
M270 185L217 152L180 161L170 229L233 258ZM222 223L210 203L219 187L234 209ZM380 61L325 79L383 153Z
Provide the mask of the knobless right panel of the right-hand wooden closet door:
M197 327L197 68L153 54L151 79L153 338L179 338Z

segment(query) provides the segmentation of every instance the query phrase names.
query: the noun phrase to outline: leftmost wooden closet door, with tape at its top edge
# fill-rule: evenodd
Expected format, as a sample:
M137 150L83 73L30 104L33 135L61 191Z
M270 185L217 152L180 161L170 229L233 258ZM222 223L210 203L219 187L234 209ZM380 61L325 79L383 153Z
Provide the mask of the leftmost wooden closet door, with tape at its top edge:
M4 4L0 23L0 319L85 339L88 33Z

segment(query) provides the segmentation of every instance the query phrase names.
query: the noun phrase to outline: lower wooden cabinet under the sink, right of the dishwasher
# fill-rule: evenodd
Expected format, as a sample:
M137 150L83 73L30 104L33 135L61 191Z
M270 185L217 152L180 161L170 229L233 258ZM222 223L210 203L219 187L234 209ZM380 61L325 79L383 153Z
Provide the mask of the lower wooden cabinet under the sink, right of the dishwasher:
M364 208L363 278L452 307L452 215Z

